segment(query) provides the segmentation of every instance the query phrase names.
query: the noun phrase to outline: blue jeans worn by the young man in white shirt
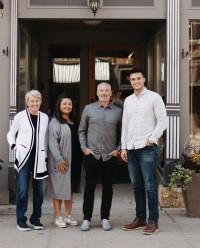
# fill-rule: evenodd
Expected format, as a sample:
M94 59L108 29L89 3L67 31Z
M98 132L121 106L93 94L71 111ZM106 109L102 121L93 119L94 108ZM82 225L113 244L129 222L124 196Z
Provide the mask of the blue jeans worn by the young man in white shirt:
M146 194L148 199L149 223L157 223L158 184L156 167L159 148L157 145L128 151L128 170L136 202L136 216L146 219Z

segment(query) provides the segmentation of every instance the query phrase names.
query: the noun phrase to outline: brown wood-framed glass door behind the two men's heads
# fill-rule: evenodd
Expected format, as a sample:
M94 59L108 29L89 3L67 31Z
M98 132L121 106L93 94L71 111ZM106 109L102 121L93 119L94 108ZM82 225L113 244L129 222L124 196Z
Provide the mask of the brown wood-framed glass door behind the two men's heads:
M91 51L90 61L94 62L94 64L91 64L90 66L90 101L97 99L96 87L103 81L111 84L113 100L117 103L123 101L125 97L133 92L129 82L129 72L134 67L140 67L139 47L94 47ZM92 69L94 70L94 73L92 72Z

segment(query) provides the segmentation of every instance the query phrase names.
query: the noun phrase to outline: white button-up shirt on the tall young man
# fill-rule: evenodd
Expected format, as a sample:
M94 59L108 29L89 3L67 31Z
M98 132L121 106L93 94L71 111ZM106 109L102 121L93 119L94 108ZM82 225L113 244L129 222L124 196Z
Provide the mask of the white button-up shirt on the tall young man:
M159 94L145 88L140 95L132 94L126 98L122 117L122 150L143 148L148 140L157 144L166 128L166 108Z

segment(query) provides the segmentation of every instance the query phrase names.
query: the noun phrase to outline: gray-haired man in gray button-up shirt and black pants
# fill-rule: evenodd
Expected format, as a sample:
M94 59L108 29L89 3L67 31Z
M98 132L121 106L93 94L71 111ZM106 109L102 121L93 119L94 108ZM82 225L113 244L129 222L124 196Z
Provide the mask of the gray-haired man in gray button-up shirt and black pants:
M81 231L90 229L99 172L102 176L102 228L105 231L112 229L109 216L113 195L113 170L120 151L122 110L110 102L111 95L111 86L105 82L100 83L97 86L99 100L84 108L79 126L79 140L86 171Z

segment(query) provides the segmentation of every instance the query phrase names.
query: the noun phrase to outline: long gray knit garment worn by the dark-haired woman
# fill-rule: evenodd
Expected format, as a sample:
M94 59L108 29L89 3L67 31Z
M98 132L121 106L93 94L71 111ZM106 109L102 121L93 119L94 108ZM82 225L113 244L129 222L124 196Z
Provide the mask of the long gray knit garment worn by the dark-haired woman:
M49 123L48 168L52 185L52 197L60 200L71 199L71 130L67 124L53 118ZM65 160L68 165L66 174L57 170L57 165Z

